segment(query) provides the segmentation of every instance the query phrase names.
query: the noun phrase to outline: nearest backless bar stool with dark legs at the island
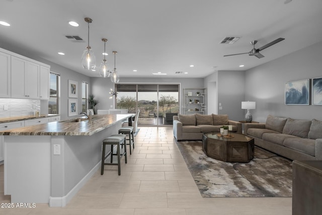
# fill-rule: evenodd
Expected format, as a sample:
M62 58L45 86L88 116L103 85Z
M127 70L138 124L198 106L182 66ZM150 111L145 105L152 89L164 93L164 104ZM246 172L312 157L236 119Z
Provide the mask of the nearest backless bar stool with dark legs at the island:
M126 135L125 134L112 134L111 136L103 140L103 152L102 152L102 166L101 175L104 173L104 165L117 165L119 175L121 175L121 157L125 156L125 163L127 164L126 147L124 148L124 153L121 154L120 145L124 144L126 146ZM105 159L109 156L105 156L106 145L111 145L111 163L105 163ZM117 145L116 154L113 153L114 145ZM113 155L117 155L117 164L113 164Z

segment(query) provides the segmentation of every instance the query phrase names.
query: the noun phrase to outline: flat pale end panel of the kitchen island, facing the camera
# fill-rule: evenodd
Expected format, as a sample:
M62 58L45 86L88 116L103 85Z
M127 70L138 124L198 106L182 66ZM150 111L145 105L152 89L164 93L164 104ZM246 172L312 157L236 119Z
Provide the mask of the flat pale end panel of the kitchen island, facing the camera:
M12 203L48 203L50 136L5 136L5 195Z

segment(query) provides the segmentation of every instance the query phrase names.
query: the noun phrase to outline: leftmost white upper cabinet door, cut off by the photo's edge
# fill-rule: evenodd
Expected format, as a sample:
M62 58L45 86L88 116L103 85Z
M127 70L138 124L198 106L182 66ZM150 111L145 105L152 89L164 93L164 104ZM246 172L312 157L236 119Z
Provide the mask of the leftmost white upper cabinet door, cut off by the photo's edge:
M11 56L0 52L0 97L11 97Z

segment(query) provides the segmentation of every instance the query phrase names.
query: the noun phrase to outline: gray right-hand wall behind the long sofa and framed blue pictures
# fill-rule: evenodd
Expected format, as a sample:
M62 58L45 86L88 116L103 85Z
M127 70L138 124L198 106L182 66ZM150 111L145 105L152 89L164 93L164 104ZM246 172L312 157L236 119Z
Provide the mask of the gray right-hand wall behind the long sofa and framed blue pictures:
M245 99L256 102L253 120L268 114L295 119L322 119L322 106L285 105L285 83L322 77L322 42L303 48L245 73Z

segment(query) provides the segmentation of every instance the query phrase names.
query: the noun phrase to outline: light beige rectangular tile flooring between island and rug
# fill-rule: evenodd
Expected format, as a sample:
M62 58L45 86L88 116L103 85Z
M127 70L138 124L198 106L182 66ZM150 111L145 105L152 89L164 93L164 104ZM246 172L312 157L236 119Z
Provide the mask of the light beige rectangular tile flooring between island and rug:
M129 150L128 150L129 152ZM202 198L173 137L172 127L140 127L128 163L98 170L65 207L0 208L0 214L291 214L292 198ZM4 172L0 166L0 202ZM28 186L26 184L26 186ZM3 204L2 204L3 205Z

